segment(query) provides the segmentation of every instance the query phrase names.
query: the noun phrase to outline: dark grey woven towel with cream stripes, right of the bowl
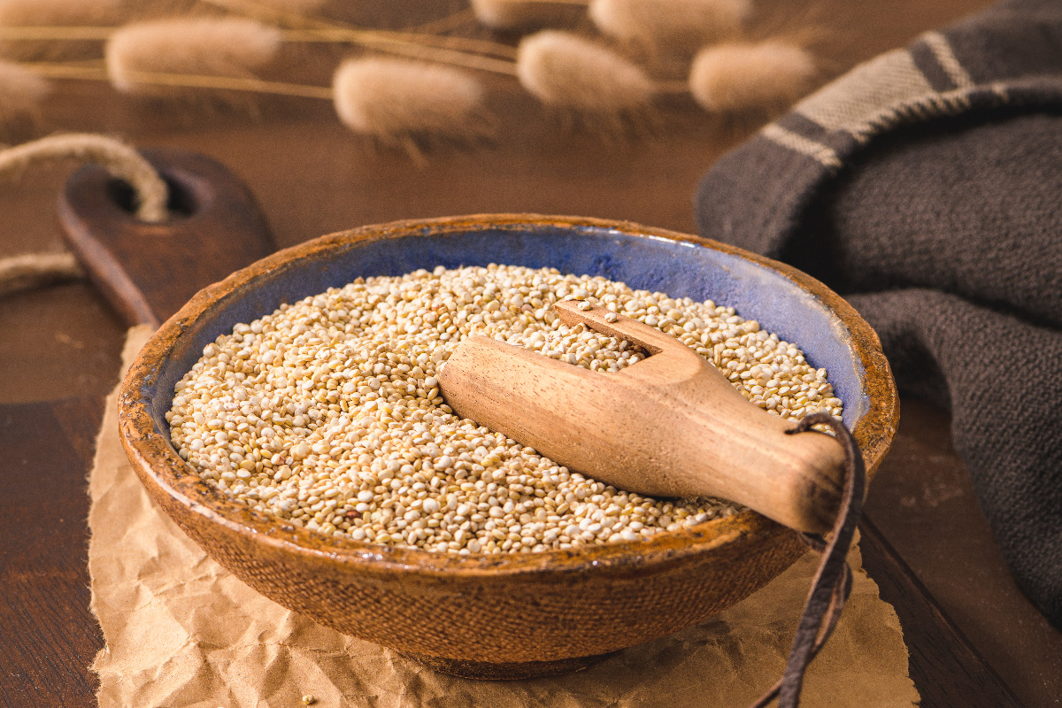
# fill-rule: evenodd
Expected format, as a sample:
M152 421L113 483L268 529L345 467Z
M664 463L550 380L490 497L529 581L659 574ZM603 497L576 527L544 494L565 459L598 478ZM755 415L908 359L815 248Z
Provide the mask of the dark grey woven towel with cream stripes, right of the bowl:
M952 413L1018 585L1062 626L1062 1L860 65L704 175L702 236L839 291Z

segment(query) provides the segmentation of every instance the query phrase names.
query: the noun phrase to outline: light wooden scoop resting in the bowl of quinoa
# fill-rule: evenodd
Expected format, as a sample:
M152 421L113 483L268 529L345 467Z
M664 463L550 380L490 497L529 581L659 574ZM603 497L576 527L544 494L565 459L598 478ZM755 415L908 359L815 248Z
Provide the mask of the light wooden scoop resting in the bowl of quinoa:
M798 531L824 533L840 505L844 453L825 434L747 401L676 339L566 300L561 321L626 339L650 356L590 372L486 336L463 341L439 385L463 417L596 480L638 494L722 497Z

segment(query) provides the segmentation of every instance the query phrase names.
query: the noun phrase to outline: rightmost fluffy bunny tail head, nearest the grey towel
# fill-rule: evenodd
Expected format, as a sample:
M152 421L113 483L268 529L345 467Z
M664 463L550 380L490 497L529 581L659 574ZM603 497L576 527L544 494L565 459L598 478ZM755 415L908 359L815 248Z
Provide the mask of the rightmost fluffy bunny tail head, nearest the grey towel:
M770 113L810 91L818 73L815 59L796 45L770 39L724 44L697 54L689 91L713 113Z

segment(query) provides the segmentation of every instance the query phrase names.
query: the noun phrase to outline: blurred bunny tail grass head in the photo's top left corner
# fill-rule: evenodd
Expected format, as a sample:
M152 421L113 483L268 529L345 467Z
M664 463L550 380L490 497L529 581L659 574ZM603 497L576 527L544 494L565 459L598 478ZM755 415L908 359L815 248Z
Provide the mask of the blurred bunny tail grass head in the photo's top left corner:
M0 55L19 61L100 56L99 39L36 39L22 28L98 28L122 21L121 0L0 0Z

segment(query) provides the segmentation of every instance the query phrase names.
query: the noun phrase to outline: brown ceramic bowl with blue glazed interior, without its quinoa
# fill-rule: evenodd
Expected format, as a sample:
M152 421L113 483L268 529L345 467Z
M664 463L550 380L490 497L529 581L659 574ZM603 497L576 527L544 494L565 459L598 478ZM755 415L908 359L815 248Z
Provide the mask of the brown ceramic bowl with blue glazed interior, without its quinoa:
M838 295L781 263L631 223L478 215L366 226L280 251L196 294L122 384L121 436L152 498L222 566L285 607L480 678L555 674L704 621L792 564L804 546L754 512L649 540L534 554L456 556L337 540L247 510L204 484L170 443L173 385L203 347L281 303L358 276L491 262L603 275L712 298L824 366L870 474L897 422L871 328Z

